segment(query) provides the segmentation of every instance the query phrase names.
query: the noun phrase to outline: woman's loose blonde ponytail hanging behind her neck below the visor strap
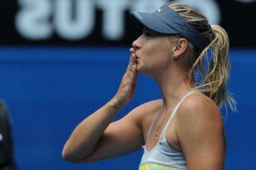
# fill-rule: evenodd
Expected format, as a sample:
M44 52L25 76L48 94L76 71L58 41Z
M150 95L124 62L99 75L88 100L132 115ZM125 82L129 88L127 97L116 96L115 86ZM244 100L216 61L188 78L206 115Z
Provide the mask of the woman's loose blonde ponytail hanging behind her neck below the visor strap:
M199 54L192 65L189 76L197 83L195 89L201 90L206 96L211 98L218 107L223 103L229 106L232 111L236 111L236 101L227 90L227 82L230 73L229 61L229 40L227 32L219 25L212 25L212 34L214 36L211 43ZM207 61L207 54L211 52L212 58L207 69L204 69ZM202 76L201 81L196 82L194 71L199 71Z

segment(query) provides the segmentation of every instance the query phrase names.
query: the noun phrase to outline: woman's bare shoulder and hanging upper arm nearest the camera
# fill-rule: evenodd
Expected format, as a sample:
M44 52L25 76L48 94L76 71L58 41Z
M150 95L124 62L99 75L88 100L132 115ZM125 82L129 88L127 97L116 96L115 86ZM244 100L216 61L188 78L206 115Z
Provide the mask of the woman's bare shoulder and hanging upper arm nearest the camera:
M176 133L188 169L224 169L225 132L219 108L211 99L194 96L178 112Z

